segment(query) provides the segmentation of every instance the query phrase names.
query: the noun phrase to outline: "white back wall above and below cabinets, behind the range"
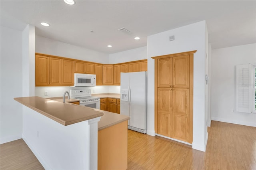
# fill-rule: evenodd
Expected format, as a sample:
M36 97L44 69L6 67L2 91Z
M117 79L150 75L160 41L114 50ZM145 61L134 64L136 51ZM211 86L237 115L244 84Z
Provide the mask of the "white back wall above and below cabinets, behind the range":
M108 64L108 55L98 51L93 51L83 47L70 45L68 43L50 40L48 38L36 36L36 53L44 53L49 55L56 55L60 57L67 57L72 59L80 59L85 61L92 61L96 63ZM60 97L65 91L70 91L72 87L35 87L35 95L40 97ZM78 87L76 87L78 88ZM84 89L84 88L81 88ZM108 86L96 86L94 88L87 87L87 89L95 89L95 93L109 93ZM44 92L48 91L48 96L44 96ZM94 93L94 94L95 94Z

